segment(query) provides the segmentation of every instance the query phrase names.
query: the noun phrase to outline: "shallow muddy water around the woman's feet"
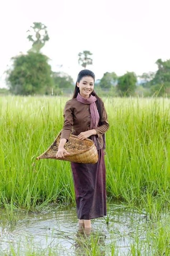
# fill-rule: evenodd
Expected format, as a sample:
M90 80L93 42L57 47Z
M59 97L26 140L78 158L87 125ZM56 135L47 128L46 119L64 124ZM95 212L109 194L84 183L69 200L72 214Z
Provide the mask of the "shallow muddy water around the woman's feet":
M100 237L100 255L109 255L107 248L112 243L119 255L126 255L136 235L140 239L145 237L146 216L131 212L120 203L110 204L108 213L109 224L104 218L91 220L91 234ZM85 239L88 239L88 235L85 235ZM76 208L71 205L51 205L41 212L27 214L20 211L16 224L8 221L4 210L0 211L0 255L13 255L10 254L11 250L16 255L26 255L28 251L30 255L31 252L41 255L46 248L55 249L56 255L83 255L80 236Z

